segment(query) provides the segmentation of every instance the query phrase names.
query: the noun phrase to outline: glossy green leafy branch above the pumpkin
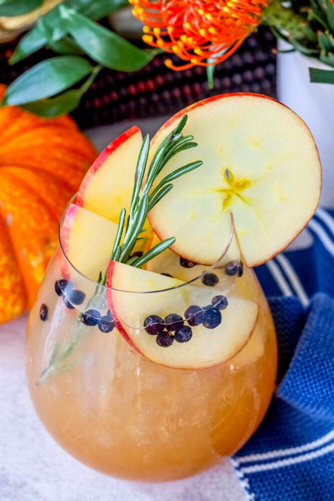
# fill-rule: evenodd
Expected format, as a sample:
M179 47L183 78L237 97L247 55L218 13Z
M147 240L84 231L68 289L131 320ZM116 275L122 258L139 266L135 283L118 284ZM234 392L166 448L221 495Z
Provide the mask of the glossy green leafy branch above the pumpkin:
M17 16L42 4L41 0L0 0L0 12ZM146 66L160 49L139 49L95 22L127 5L127 0L65 0L41 16L20 40L9 63L22 61L42 47L60 55L20 75L8 87L2 106L18 105L43 117L56 117L78 106L101 68L128 72ZM85 77L79 88L70 89Z

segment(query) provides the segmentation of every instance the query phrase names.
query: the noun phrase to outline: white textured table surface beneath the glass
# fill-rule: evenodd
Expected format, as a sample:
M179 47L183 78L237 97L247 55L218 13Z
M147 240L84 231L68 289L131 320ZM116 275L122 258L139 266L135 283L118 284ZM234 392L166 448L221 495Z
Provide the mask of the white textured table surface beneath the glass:
M164 118L136 121L153 133ZM130 122L88 131L101 150ZM149 484L118 480L82 465L40 423L25 378L27 315L0 326L0 501L245 501L228 459L200 475Z

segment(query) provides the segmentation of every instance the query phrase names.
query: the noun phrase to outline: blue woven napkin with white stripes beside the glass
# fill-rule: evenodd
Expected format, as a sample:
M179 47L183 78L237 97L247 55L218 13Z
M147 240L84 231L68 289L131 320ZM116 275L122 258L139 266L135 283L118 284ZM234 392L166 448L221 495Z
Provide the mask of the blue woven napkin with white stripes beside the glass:
M256 270L278 341L277 388L232 464L249 500L334 500L334 211L317 209L311 244Z

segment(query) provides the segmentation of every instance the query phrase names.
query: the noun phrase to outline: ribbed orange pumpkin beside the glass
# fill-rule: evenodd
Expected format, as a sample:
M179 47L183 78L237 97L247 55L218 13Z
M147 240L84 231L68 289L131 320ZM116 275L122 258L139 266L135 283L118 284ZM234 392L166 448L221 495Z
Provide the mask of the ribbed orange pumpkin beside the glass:
M96 154L68 116L0 109L0 323L32 306L62 210Z

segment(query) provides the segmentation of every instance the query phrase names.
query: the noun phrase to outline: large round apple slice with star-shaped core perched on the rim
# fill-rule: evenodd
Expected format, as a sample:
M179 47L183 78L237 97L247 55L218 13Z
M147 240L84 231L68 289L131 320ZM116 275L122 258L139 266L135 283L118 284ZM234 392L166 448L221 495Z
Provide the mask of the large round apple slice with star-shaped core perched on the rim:
M172 157L156 184L181 165L199 169L173 181L173 189L149 212L172 250L212 265L228 238L230 212L249 267L269 260L302 230L317 206L321 169L305 123L279 102L255 94L220 95L174 115L152 140L150 155L187 114L184 134L198 143Z

